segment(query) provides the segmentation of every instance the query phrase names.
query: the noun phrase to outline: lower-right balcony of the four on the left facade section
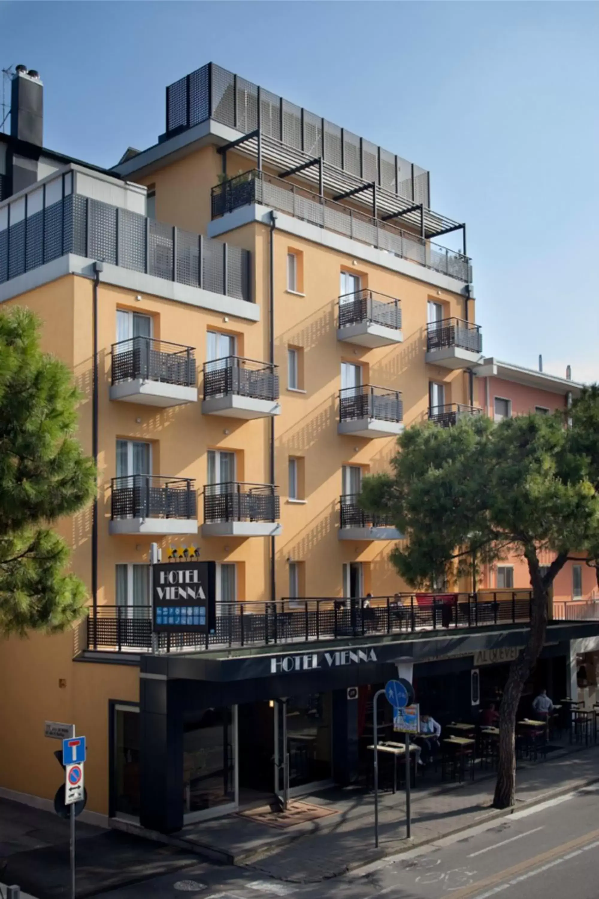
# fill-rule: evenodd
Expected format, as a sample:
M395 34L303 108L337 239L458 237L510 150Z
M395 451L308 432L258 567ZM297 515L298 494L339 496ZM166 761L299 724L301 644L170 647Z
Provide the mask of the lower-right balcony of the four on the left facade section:
M276 537L279 518L275 485L229 481L204 490L202 537Z

